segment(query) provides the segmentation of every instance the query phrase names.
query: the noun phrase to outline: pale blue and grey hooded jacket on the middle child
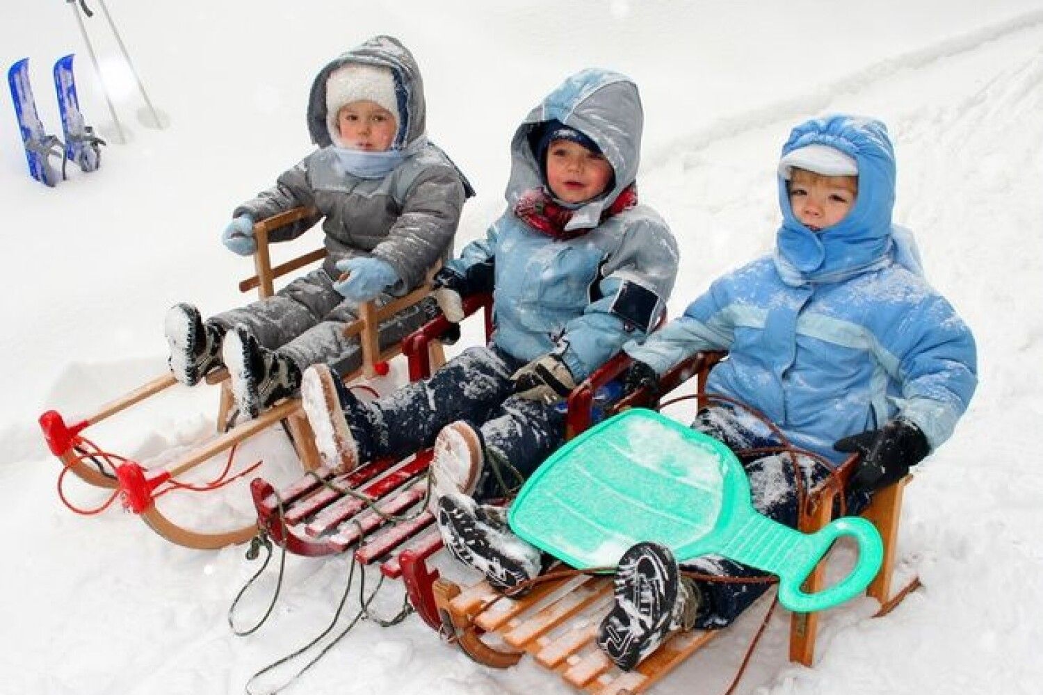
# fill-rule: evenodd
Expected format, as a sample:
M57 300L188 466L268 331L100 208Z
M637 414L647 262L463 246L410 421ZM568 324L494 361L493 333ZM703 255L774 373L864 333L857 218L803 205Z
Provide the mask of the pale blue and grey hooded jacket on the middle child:
M567 241L537 231L511 212L543 184L530 135L557 119L590 138L608 158L614 188L574 212ZM518 359L561 351L579 380L644 337L661 316L677 274L677 244L666 223L636 205L599 224L602 212L637 176L644 115L629 78L585 70L566 79L526 117L511 141L507 212L486 238L450 266L462 275L493 259L493 342Z

